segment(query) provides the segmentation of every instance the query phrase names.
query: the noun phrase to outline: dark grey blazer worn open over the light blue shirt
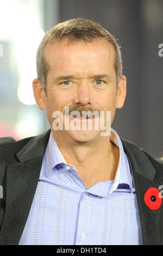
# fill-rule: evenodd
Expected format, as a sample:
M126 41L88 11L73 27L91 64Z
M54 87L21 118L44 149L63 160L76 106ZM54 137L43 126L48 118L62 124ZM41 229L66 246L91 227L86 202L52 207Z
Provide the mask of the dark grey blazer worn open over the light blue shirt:
M36 137L0 143L0 245L18 245L33 202L50 130ZM143 235L143 245L163 244L163 203L150 210L144 194L163 185L163 165L134 143L121 138L131 166Z

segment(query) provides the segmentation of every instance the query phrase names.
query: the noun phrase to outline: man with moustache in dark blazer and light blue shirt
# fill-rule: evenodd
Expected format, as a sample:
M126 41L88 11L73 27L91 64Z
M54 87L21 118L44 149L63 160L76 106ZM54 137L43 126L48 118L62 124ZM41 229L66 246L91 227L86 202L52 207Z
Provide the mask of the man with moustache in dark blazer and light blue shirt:
M51 130L0 145L1 244L161 244L162 165L113 129L102 133L126 98L114 37L89 20L62 22L36 62L34 96Z

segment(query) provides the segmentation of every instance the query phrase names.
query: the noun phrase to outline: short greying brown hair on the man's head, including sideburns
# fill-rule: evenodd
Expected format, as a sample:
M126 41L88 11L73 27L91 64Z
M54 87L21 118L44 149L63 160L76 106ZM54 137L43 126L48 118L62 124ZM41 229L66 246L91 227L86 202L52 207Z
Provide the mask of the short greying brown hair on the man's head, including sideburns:
M116 87L118 88L118 84L122 77L122 57L120 46L117 44L116 39L98 23L90 20L77 18L58 23L56 26L52 27L45 34L45 36L43 36L43 39L39 45L36 54L37 79L45 90L46 95L48 63L44 56L44 50L47 43L52 43L55 40L61 41L64 39L68 39L68 42L70 43L77 42L79 40L83 40L85 42L92 42L93 40L98 38L106 39L114 46L114 68L116 72Z

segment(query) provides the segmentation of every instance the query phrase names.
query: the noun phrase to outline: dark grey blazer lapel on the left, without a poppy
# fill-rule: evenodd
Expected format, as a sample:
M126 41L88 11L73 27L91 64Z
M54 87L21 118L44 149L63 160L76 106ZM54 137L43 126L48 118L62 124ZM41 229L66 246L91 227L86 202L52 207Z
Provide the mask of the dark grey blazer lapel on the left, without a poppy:
M49 134L50 130L33 137L17 153L20 162L7 166L1 245L18 245L20 241L39 180Z

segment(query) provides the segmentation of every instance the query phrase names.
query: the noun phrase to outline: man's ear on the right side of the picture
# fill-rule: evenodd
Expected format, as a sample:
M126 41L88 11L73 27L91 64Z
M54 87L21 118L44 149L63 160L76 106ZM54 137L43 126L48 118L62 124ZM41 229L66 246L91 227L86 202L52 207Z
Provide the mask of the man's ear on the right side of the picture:
M126 99L126 84L127 84L126 76L122 75L118 85L118 89L117 89L116 108L122 108L124 105L124 101Z

